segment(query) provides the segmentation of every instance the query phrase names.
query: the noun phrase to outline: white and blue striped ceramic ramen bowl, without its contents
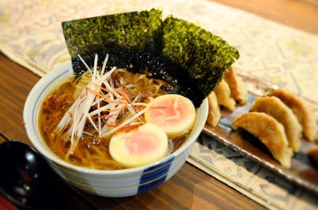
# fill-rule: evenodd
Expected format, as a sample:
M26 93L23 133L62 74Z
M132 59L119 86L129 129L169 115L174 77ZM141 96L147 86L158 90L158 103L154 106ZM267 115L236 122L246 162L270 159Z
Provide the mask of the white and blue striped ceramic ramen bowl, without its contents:
M208 101L196 109L194 129L176 151L155 163L121 170L94 170L68 163L55 155L42 138L39 117L42 103L57 86L73 76L71 62L61 64L43 76L30 91L23 110L25 131L49 166L70 185L104 197L127 197L158 187L169 180L186 161L208 116Z

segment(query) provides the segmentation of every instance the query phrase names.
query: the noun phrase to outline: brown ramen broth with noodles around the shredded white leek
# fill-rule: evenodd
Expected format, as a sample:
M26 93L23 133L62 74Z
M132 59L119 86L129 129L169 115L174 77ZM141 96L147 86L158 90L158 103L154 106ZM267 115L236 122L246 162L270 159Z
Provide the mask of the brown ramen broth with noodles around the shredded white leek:
M77 144L72 148L71 152L71 139L69 135L66 135L66 133L69 132L69 126L63 127L63 129L57 129L64 115L74 115L74 113L68 113L68 110L76 98L80 97L81 91L90 81L90 78L90 72L84 73L79 78L72 78L52 91L52 93L45 98L40 113L42 136L53 153L69 163L101 170L122 169L124 167L114 161L110 156L109 144L112 135L99 136L92 122L88 120L85 122L83 134L78 138ZM124 95L127 95L129 100L133 99L138 103L149 103L149 98L155 98L165 94L165 83L148 78L146 74L132 74L125 69L116 69L112 73L110 81L114 88L122 91ZM107 87L101 86L100 88L102 88L103 92L107 92ZM100 104L95 104L90 107L90 111L98 109L98 107L103 105L107 105L107 102L101 100ZM143 107L135 107L135 111L139 112L139 109L142 110L142 108ZM110 117L110 114L110 111L103 111L98 117L91 117L91 119L94 124L107 124L107 120L104 117ZM131 117L131 113L123 109L119 112L116 122L107 125L108 127L115 127L129 117ZM144 122L143 115L136 118L134 122ZM124 128L127 129L127 127L129 127L129 125L126 125ZM189 132L181 137L169 137L168 153L172 153L179 148L185 139L187 139Z

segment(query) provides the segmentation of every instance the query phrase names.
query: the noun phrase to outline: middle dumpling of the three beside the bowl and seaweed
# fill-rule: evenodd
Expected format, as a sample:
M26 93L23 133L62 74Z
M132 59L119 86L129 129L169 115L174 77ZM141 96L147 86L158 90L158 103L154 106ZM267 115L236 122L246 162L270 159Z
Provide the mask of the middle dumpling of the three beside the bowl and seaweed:
M224 79L214 88L214 93L216 93L218 105L227 107L230 111L235 110L235 100L231 97L230 87Z

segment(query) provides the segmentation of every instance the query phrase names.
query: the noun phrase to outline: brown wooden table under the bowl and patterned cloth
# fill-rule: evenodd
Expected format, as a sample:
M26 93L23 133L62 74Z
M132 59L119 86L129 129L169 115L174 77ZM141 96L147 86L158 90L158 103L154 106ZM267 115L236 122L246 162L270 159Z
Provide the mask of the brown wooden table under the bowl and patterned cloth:
M318 34L318 1L315 0L217 2ZM30 144L23 128L23 105L39 79L0 54L0 142L17 139ZM73 189L64 182L60 185L69 209L264 209L189 163L165 184L135 197L98 197Z

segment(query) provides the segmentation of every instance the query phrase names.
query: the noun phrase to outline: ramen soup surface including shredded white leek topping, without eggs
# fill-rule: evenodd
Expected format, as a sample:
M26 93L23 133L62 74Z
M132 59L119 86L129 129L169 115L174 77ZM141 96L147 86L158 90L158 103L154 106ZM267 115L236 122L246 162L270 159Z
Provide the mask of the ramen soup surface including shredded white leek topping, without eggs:
M86 71L45 98L40 114L42 136L57 156L74 165L101 170L126 168L110 155L112 136L145 124L144 112L167 88L163 81L125 69ZM182 136L167 136L167 154L187 139L191 129Z

